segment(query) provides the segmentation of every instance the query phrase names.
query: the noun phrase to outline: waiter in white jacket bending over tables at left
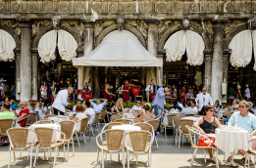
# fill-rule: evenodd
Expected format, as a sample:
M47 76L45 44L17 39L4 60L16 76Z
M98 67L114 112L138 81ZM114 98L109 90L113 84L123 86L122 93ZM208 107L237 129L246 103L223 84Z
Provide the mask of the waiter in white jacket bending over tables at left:
M64 115L64 112L66 111L65 106L70 105L68 103L69 95L73 94L73 88L69 87L68 89L61 90L58 92L58 95L56 99L54 100L54 103L52 104L54 109L54 114L62 114Z

